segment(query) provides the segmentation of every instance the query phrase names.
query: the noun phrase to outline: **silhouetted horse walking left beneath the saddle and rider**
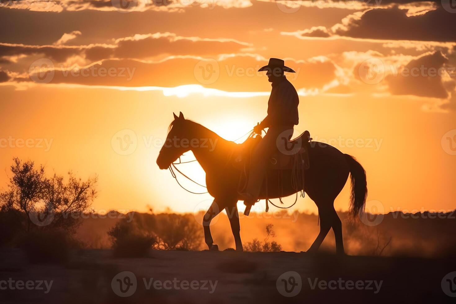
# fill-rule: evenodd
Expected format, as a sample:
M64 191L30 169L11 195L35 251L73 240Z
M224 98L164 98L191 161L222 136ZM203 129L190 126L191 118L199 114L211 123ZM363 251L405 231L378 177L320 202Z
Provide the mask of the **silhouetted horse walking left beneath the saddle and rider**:
M212 205L203 217L204 239L209 250L218 250L213 243L210 223L220 211L227 212L233 232L236 251L243 251L240 237L237 202L241 168L233 165L233 150L239 144L221 138L201 124L185 119L182 112L174 114L168 128L165 144L160 150L157 165L168 169L182 154L191 150L196 160L206 172L208 193L214 198ZM208 142L215 144L207 144ZM172 144L171 144L172 143ZM305 170L304 189L292 187L290 178L282 180L282 191L268 193L269 198L279 198L304 190L315 202L320 216L320 232L307 252L316 252L332 228L336 241L336 253L345 254L342 241L342 222L334 209L334 200L342 191L347 178L351 177L350 213L363 212L367 197L366 171L351 155L343 154L335 147L319 142L311 142L309 149L310 167ZM301 186L302 188L302 186ZM260 197L264 199L265 197Z

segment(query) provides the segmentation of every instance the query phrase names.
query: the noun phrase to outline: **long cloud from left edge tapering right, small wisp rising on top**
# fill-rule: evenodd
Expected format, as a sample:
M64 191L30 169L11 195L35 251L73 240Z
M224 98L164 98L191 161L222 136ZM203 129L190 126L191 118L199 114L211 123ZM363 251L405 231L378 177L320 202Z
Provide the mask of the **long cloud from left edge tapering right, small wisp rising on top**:
M157 55L216 55L239 52L249 43L233 39L208 39L177 36L174 33L155 33L123 37L113 44L66 46L63 43L80 35L80 31L64 34L54 45L36 46L0 43L0 59L9 62L9 56L41 55L55 62L66 62L71 57L83 57L87 64L108 58L146 59Z

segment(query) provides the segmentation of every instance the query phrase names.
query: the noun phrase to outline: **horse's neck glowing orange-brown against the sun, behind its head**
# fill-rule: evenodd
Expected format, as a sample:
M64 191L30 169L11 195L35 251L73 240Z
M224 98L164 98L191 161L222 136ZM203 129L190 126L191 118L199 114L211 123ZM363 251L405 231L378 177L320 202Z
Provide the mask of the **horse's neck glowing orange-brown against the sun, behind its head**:
M192 152L205 172L216 170L219 165L228 161L232 142L221 138L216 133L192 122L191 139L198 139L198 147L192 147ZM191 140L190 139L190 140Z

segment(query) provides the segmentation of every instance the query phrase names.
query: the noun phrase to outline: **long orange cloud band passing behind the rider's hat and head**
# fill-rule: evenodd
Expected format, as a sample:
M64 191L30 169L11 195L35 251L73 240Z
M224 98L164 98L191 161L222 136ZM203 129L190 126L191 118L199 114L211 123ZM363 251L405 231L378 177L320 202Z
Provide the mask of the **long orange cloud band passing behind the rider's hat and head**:
M168 88L198 84L227 92L264 92L270 90L270 84L265 73L257 71L267 62L254 54L223 55L217 60L191 56L173 56L157 62L107 59L82 69L53 65L53 69L45 68L43 73L34 71L30 78L52 84ZM287 73L287 77L297 89L323 88L335 78L336 67L324 58L289 59L286 63L296 71Z

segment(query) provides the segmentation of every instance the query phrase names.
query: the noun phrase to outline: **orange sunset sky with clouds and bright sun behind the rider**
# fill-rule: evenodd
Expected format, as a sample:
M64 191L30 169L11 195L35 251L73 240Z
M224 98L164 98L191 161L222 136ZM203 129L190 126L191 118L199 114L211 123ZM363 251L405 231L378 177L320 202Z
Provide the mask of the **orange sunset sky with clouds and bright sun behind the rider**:
M450 2L121 1L1 0L2 189L17 156L98 175L96 211L207 205L155 164L172 113L238 139L266 115L271 86L256 71L277 57L296 71L295 135L307 129L356 157L368 201L385 213L456 207ZM204 183L198 165L181 168ZM316 211L308 197L295 209Z

